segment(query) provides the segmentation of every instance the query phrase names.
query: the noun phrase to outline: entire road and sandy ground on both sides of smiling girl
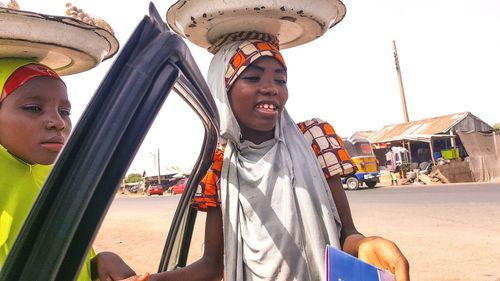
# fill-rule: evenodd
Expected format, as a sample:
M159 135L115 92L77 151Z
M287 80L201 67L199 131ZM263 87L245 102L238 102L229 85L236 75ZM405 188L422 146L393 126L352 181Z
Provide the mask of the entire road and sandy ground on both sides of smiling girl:
M397 242L412 280L500 281L500 184L380 187L347 196L358 229ZM179 198L117 197L96 249L118 252L138 272L155 271ZM192 259L202 251L203 221Z

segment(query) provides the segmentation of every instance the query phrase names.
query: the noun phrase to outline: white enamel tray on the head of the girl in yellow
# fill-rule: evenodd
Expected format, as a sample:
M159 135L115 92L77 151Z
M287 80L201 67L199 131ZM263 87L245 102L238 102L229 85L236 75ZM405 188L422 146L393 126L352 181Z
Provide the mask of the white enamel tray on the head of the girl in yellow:
M107 30L73 18L0 8L0 57L31 57L69 75L97 66L118 47Z

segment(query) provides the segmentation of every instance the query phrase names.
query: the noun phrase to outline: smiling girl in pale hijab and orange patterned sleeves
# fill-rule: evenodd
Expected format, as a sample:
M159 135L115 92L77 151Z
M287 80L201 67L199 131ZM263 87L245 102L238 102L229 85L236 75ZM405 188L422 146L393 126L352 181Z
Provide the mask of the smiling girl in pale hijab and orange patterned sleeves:
M208 73L221 145L193 199L207 211L205 252L151 280L325 280L326 245L409 280L393 242L354 227L340 183L340 174L354 168L333 128L318 119L297 126L285 110L286 65L276 38L221 41ZM274 63L264 63L269 58ZM243 102L242 95L250 98ZM242 107L278 113L274 127L249 128Z

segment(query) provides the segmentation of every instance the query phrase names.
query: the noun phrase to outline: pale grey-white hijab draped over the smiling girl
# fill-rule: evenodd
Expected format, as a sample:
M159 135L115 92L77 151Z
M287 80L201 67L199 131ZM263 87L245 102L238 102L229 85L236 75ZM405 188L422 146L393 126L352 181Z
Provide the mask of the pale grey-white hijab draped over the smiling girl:
M229 105L225 73L242 42L212 59L208 83L227 143L220 180L224 280L325 280L325 246L340 248L340 219L311 145L288 115L275 137L241 140Z

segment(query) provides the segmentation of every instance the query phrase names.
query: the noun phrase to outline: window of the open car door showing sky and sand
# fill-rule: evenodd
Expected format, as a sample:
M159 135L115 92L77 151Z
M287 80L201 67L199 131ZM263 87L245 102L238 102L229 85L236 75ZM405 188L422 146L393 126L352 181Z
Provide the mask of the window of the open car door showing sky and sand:
M157 271L181 198L179 193L172 194L170 188L175 184L185 184L185 177L189 176L198 157L203 134L203 125L194 111L172 92L139 148L128 177L125 177L104 218L93 244L96 252L115 252L136 272ZM133 174L136 176L131 176ZM161 195L148 189L151 186L162 187ZM204 225L204 214L199 214L188 258L190 261L201 257Z

